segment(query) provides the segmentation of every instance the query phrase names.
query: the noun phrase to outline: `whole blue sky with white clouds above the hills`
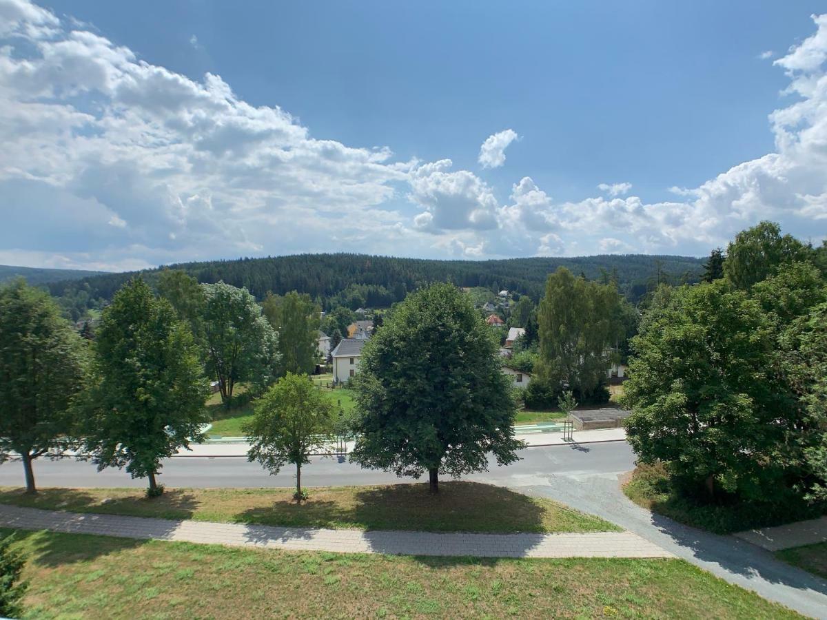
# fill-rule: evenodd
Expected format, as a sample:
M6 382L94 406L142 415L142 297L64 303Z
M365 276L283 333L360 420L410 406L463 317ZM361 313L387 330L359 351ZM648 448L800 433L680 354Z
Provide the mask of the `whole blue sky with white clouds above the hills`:
M819 243L819 10L0 0L0 264Z

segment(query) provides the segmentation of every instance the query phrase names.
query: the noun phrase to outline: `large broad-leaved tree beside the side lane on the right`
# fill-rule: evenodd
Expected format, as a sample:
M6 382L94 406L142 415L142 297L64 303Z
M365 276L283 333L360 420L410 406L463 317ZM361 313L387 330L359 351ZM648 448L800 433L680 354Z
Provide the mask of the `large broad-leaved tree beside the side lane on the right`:
M783 494L773 455L791 401L770 372L773 348L758 303L726 280L663 295L633 340L624 383L638 459L664 461L685 488L710 496Z

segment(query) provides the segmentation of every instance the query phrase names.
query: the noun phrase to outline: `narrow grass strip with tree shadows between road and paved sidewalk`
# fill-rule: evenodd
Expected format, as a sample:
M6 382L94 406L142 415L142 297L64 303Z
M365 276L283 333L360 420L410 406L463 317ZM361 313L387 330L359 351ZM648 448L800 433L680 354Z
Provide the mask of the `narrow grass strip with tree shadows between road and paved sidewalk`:
M309 480L308 480L309 482ZM427 532L617 532L599 517L475 482L445 482L437 496L428 484L308 489L297 504L294 489L167 489L146 498L142 489L0 489L0 503L126 514L135 517ZM103 499L115 501L101 503Z

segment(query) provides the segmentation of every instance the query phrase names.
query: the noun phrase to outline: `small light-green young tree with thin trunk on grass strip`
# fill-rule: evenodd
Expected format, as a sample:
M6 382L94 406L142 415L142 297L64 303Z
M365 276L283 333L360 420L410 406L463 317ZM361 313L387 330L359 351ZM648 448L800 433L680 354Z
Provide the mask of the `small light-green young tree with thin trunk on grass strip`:
M304 374L287 373L256 400L255 414L245 427L250 438L248 460L278 474L285 463L296 466L294 499L305 498L302 465L322 450L333 431L333 403Z

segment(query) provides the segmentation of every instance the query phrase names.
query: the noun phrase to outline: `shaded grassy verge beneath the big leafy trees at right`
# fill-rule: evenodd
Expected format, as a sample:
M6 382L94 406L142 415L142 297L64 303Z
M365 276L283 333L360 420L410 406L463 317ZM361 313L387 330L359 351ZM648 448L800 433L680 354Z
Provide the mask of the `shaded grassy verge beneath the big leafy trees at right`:
M679 493L663 465L638 465L623 490L638 506L716 534L783 525L822 514L822 508L803 503L705 503Z

